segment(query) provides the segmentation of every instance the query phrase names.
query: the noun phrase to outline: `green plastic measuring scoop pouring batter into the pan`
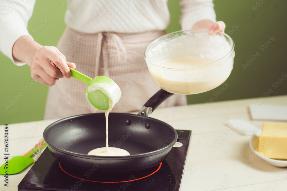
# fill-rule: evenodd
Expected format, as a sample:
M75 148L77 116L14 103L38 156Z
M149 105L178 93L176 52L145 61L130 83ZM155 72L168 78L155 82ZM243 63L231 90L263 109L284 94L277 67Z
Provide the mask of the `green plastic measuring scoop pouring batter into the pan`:
M88 102L98 110L108 111L110 108L110 102L109 97L102 92L101 90L96 91L88 91L89 87L92 84L95 83L107 83L114 86L117 86L117 84L110 78L106 76L97 76L96 78L92 79L85 74L82 74L81 72L78 72L77 70L70 68L71 76L73 78L76 78L77 80L80 80L82 82L85 82L86 84L89 84L88 88L86 89L86 98ZM117 86L119 88L119 86Z

